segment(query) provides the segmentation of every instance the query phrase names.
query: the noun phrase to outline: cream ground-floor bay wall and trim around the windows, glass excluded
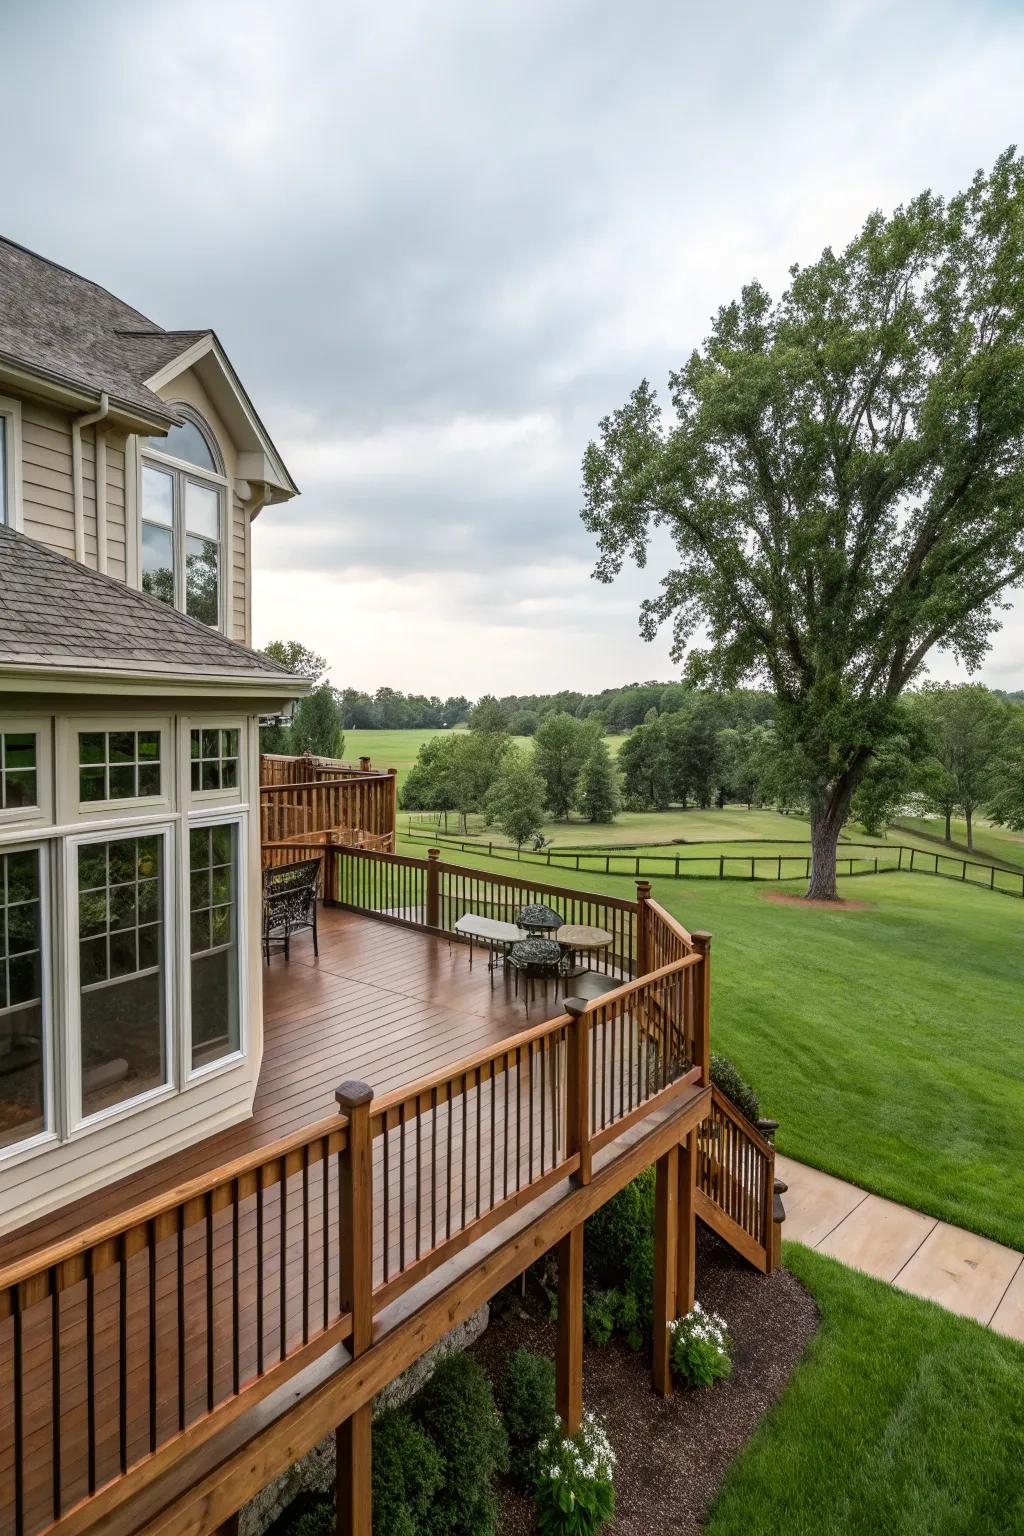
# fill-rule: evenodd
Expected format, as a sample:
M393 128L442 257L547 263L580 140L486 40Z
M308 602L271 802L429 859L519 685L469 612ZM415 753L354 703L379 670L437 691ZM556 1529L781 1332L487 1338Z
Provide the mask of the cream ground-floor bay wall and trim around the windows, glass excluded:
M203 727L239 731L236 790L192 791L190 733ZM157 705L114 694L41 700L0 696L0 733L31 728L38 740L37 806L0 809L0 854L41 849L45 874L45 1031L49 1052L49 1124L43 1135L3 1146L0 1137L0 1232L83 1198L158 1158L246 1118L263 1054L259 739L252 705L204 699ZM161 733L161 794L144 802L83 805L78 799L78 733ZM192 1072L189 831L226 820L236 825L238 997L241 1051ZM160 833L166 874L169 1084L138 1103L77 1121L80 989L75 869L80 839ZM0 1008L0 1034L5 1012ZM0 1130L5 1072L0 1055Z

